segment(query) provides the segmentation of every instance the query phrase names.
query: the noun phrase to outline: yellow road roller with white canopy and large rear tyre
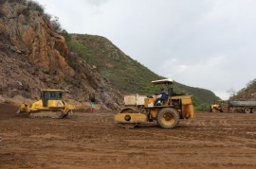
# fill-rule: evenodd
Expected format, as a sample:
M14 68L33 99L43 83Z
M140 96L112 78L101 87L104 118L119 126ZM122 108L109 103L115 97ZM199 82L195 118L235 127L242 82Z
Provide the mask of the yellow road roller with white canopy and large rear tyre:
M165 99L155 104L156 95L125 95L126 108L114 116L121 127L134 128L138 124L157 122L162 128L177 127L180 119L194 117L191 95L173 93L173 79L155 80L152 83L167 88Z

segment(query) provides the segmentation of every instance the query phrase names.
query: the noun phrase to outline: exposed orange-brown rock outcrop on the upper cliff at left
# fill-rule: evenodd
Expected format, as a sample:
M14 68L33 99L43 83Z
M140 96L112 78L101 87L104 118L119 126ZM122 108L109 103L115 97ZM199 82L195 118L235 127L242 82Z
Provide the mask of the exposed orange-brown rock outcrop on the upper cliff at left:
M46 70L58 68L65 76L75 75L65 61L68 48L64 37L49 25L42 13L18 3L5 3L1 10L4 14L1 32L9 37L11 45Z

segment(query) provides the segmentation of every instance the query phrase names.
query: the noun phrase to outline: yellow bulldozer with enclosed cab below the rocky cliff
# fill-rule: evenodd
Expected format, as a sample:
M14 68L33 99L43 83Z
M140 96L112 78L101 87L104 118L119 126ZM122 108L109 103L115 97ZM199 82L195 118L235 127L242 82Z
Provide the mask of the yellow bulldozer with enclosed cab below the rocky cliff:
M18 113L26 113L31 118L64 118L75 107L64 102L63 93L63 90L42 90L39 101L21 104Z

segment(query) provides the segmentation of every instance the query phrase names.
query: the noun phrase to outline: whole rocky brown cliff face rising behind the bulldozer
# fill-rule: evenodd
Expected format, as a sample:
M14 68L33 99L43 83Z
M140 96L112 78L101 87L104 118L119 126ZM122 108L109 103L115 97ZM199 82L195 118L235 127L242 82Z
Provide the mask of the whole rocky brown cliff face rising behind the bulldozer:
M102 108L122 105L122 95L92 65L69 53L45 14L25 0L0 2L0 78L1 97L35 99L40 89L58 88L77 102L96 97Z

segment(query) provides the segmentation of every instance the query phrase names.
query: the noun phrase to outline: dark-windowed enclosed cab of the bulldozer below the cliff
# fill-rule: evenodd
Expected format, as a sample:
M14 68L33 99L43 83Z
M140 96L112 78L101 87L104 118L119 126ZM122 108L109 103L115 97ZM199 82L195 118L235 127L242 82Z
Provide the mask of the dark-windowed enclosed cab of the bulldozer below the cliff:
M48 100L62 100L63 93L63 90L42 90L41 99L43 107L48 107Z

